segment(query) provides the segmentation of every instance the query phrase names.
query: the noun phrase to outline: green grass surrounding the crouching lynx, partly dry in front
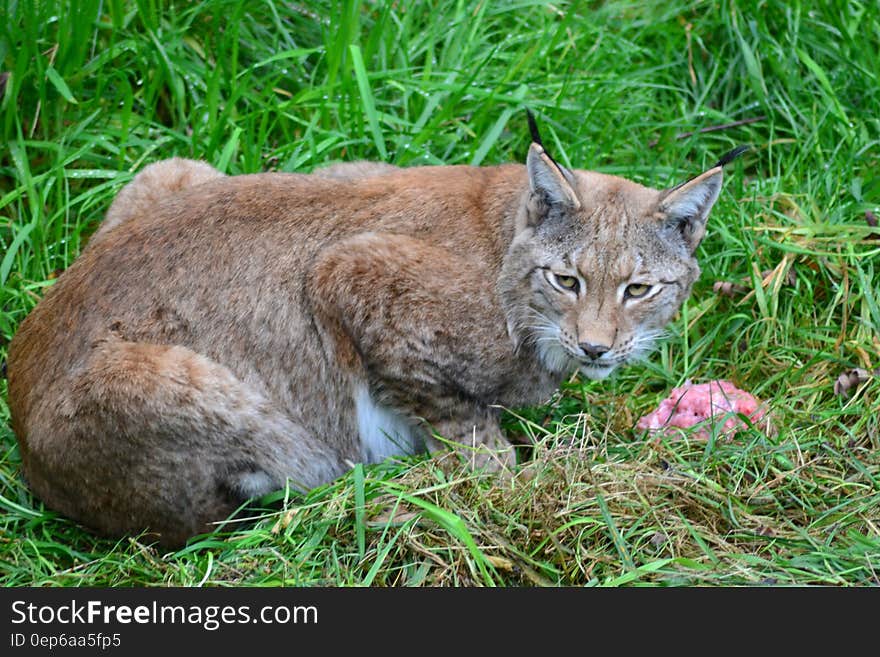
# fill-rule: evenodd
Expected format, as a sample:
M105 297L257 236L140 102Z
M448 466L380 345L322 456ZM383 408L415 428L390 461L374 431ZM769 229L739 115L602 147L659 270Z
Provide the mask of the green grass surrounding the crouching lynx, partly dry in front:
M3 584L880 583L880 377L833 390L880 367L873 0L2 12L0 358L114 194L161 158L228 173L522 161L525 107L563 163L656 187L754 146L730 168L673 336L646 366L510 409L510 431L537 442L513 478L449 459L357 468L164 553L96 538L30 495L0 380ZM745 293L719 296L719 280ZM777 433L634 433L688 378L753 391Z

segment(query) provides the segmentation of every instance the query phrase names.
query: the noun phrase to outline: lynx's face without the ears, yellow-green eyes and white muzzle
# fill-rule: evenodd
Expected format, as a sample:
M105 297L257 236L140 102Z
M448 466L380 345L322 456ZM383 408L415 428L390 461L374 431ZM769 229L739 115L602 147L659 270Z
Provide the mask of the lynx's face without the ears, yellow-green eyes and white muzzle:
M537 231L527 330L548 369L605 378L647 355L687 297L696 261L652 230L652 217L640 219L624 215L622 235L581 224L567 244Z

